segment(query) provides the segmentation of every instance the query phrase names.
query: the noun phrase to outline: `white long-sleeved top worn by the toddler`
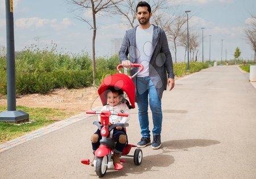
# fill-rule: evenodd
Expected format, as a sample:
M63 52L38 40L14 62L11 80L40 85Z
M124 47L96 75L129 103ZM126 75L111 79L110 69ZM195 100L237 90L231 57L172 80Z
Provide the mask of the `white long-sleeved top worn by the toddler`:
M126 105L126 103L119 103L117 106L109 106L105 105L102 107L101 111L114 111L115 113L125 113L129 114L129 116L117 116L117 115L110 115L109 122L115 123L127 123L130 119L130 109ZM98 120L101 121L100 115L98 115Z

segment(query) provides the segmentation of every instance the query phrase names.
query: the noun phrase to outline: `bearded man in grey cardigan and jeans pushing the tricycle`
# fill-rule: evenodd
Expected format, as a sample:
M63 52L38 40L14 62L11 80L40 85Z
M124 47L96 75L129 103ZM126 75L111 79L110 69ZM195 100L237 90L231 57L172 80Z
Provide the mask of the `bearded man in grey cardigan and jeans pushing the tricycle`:
M167 85L172 90L175 84L172 57L165 32L160 27L150 24L152 16L150 5L147 2L139 2L136 11L139 26L126 31L119 51L119 59L126 68L130 68L131 63L144 65L144 70L133 79L142 135L137 146L142 148L151 143L147 111L149 99L154 124L151 147L158 149L161 146L163 91L166 90ZM136 69L131 70L131 75L135 71Z

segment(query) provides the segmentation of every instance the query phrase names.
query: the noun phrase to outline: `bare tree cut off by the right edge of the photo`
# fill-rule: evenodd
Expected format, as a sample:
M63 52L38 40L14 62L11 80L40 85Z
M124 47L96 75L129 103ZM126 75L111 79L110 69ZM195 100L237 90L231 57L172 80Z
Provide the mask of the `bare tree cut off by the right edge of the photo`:
M251 15L252 22L249 27L245 29L246 38L254 50L254 63L256 64L256 15Z

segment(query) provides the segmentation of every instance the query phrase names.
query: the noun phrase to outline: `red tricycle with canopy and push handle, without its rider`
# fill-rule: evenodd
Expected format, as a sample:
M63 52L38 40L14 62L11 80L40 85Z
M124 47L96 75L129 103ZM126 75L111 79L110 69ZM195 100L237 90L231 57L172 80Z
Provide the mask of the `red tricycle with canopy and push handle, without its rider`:
M131 66L139 67L135 75L143 70L143 65L141 64L131 64ZM108 76L102 81L99 89L98 94L100 95L102 105L106 105L106 95L105 91L109 88L109 86L114 86L116 88L122 89L127 97L129 98L129 102L131 105L130 108L135 108L135 86L133 84L132 78L135 76L127 76L122 74L119 68L122 65L117 66L117 70L119 73L113 74ZM125 102L127 103L126 99ZM85 165L93 164L96 174L99 177L105 176L106 170L115 166L113 164L113 157L112 153L115 148L115 141L112 139L113 129L115 127L127 127L129 126L128 123L115 123L112 124L110 127L109 124L109 117L110 115L117 115L117 116L128 116L128 114L124 113L115 113L114 111L88 111L86 114L98 114L100 115L100 122L94 121L93 124L98 127L100 130L102 139L100 140L100 147L95 151L95 159L94 161L90 161L89 159L82 160L81 163ZM126 147L122 151L122 156L133 157L134 164L140 165L142 163L142 150L137 148L134 151L134 155L128 155L132 147L137 147L137 145L133 144L126 144ZM125 163L125 160L121 159L121 163ZM115 170L119 170L118 166L115 166ZM121 168L122 169L122 168Z

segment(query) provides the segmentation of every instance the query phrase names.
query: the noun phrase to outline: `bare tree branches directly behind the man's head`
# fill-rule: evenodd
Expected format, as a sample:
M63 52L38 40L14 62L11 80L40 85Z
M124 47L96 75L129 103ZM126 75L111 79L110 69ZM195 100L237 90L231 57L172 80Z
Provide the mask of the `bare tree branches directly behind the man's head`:
M122 15L127 19L129 22L129 26L132 28L135 27L137 23L136 19L136 6L138 4L139 0L123 0L122 3L115 5L115 13ZM159 9L166 9L167 8L167 1L166 0L148 0L148 4L151 6L151 13L154 16L154 13L156 10Z

